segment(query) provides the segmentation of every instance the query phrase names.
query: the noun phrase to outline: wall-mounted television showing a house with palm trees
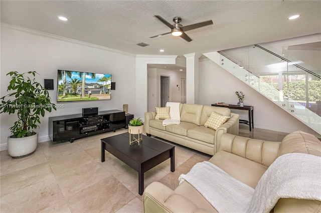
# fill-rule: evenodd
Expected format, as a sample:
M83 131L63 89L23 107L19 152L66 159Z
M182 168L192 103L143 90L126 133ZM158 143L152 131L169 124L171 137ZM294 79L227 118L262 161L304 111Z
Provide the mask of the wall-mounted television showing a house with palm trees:
M57 82L57 102L111 98L111 74L58 69Z

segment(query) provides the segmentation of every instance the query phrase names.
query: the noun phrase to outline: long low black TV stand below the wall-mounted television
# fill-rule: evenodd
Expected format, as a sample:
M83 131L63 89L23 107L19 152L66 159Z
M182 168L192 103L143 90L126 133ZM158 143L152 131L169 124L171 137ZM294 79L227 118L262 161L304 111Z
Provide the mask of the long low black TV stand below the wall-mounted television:
M125 112L121 110L100 111L97 115L83 117L71 114L49 117L49 137L53 143L73 142L75 139L116 131L126 125Z

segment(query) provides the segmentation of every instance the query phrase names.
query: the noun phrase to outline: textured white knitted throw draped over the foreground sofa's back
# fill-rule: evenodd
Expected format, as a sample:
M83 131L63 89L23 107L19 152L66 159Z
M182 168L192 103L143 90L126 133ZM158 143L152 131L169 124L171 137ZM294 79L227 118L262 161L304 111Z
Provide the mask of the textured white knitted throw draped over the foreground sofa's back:
M256 185L246 212L270 212L279 198L321 201L321 157L305 153L279 156Z

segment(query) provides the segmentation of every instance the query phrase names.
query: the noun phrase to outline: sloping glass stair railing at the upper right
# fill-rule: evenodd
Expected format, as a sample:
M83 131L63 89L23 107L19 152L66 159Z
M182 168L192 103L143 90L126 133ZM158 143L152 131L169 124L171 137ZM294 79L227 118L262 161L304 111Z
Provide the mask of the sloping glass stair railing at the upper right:
M255 44L204 55L321 134L320 70L275 52Z

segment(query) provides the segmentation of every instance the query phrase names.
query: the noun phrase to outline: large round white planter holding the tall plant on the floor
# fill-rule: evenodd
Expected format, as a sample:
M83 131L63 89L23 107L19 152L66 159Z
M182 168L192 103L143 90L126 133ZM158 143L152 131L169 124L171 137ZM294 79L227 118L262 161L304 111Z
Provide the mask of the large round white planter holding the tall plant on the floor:
M8 136L8 152L13 158L26 157L37 148L38 133L28 137L10 137Z

